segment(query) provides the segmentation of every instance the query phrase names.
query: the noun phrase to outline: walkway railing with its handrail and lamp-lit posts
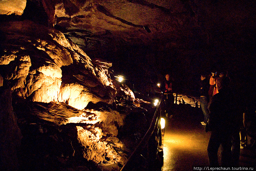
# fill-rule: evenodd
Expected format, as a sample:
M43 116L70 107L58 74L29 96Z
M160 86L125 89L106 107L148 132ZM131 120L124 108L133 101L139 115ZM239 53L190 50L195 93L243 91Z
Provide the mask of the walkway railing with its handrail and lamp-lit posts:
M145 148L146 145L148 145L148 142L150 138L152 138L152 135L156 135L156 140L157 140L157 152L156 155L158 155L158 148L162 145L162 131L161 131L161 125L160 125L160 120L161 120L161 105L163 103L163 98L164 96L162 95L161 100L159 101L157 108L155 110L155 114L152 118L150 127L146 134L143 136L142 140L139 142L139 145L135 148L135 150L132 152L130 157L128 158L127 162L123 167L121 168L120 171L130 171L132 170L132 164L133 161L135 160L136 156L140 155L140 152L142 151L143 148ZM155 137L154 137L155 138Z

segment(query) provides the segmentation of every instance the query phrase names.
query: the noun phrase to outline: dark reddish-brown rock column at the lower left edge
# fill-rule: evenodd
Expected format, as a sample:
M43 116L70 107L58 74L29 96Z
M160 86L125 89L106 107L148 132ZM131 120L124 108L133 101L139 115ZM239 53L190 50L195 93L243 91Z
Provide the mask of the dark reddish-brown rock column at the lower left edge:
M10 89L0 87L0 168L18 170L17 149L21 143L21 132L12 108Z

